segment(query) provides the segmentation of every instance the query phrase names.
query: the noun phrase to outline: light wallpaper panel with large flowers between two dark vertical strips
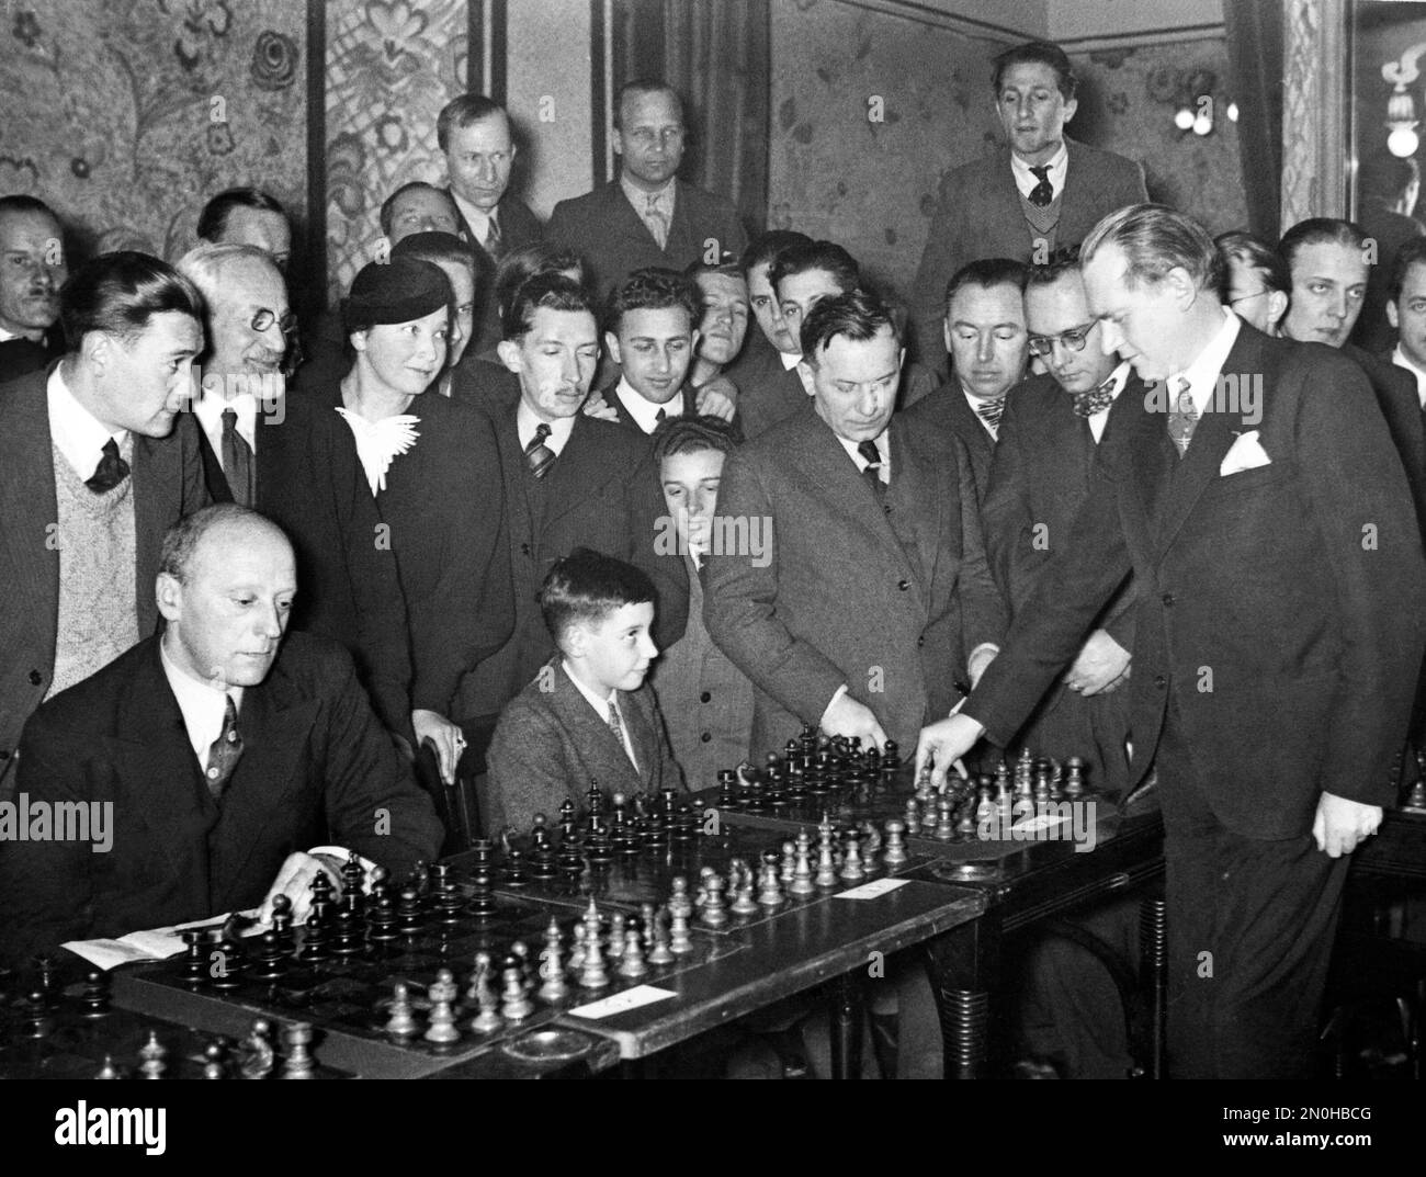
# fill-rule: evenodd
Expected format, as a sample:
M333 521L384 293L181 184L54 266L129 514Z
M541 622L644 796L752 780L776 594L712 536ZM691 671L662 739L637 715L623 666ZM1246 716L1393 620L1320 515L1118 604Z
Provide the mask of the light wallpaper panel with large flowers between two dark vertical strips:
M445 181L436 116L465 90L465 0L334 0L327 13L327 272L331 301L382 244L382 201Z

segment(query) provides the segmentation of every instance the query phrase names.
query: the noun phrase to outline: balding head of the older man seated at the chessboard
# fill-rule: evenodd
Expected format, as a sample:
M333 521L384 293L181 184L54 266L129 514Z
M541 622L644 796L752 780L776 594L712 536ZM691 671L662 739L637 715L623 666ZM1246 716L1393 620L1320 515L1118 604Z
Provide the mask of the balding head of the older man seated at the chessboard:
M157 592L170 662L218 691L257 686L297 595L292 545L257 511L204 508L164 536Z

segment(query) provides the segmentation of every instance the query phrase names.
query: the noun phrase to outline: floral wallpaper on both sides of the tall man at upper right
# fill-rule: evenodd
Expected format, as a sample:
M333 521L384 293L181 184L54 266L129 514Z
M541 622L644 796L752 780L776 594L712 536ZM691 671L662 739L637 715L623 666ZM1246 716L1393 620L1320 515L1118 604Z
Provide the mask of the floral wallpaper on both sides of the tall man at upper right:
M840 241L904 298L941 175L1000 141L990 58L1005 44L838 0L773 4L769 227ZM1174 126L1189 81L1209 76L1224 97L1222 40L1081 54L1074 64L1072 136L1139 160L1149 195L1214 233L1246 223L1233 124L1219 117L1205 138Z

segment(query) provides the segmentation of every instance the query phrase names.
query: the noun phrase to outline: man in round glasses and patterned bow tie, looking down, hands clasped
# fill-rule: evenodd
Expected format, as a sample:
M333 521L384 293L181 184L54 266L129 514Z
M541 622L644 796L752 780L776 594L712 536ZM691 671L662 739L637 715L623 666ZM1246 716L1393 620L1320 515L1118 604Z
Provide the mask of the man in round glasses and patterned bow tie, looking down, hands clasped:
M1030 350L1048 371L1005 401L990 464L981 524L991 575L1011 621L1034 593L1050 561L1068 544L1089 492L1095 451L1124 395L1142 395L1128 361L1099 347L1075 257L1031 267L1025 288ZM1085 760L1095 788L1122 792L1129 759L1125 705L1134 649L1134 591L1127 582L1015 742L1037 755Z

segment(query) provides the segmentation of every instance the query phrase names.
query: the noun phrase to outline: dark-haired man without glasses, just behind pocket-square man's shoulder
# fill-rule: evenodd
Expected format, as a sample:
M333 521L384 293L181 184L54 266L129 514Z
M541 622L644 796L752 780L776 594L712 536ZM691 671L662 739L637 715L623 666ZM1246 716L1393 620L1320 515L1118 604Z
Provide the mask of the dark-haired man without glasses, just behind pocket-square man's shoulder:
M1299 221L1282 235L1278 253L1292 277L1292 302L1282 320L1282 334L1289 340L1340 348L1366 372L1406 468L1426 535L1426 431L1412 378L1389 361L1348 342L1366 300L1370 270L1366 248L1360 225L1332 217Z

